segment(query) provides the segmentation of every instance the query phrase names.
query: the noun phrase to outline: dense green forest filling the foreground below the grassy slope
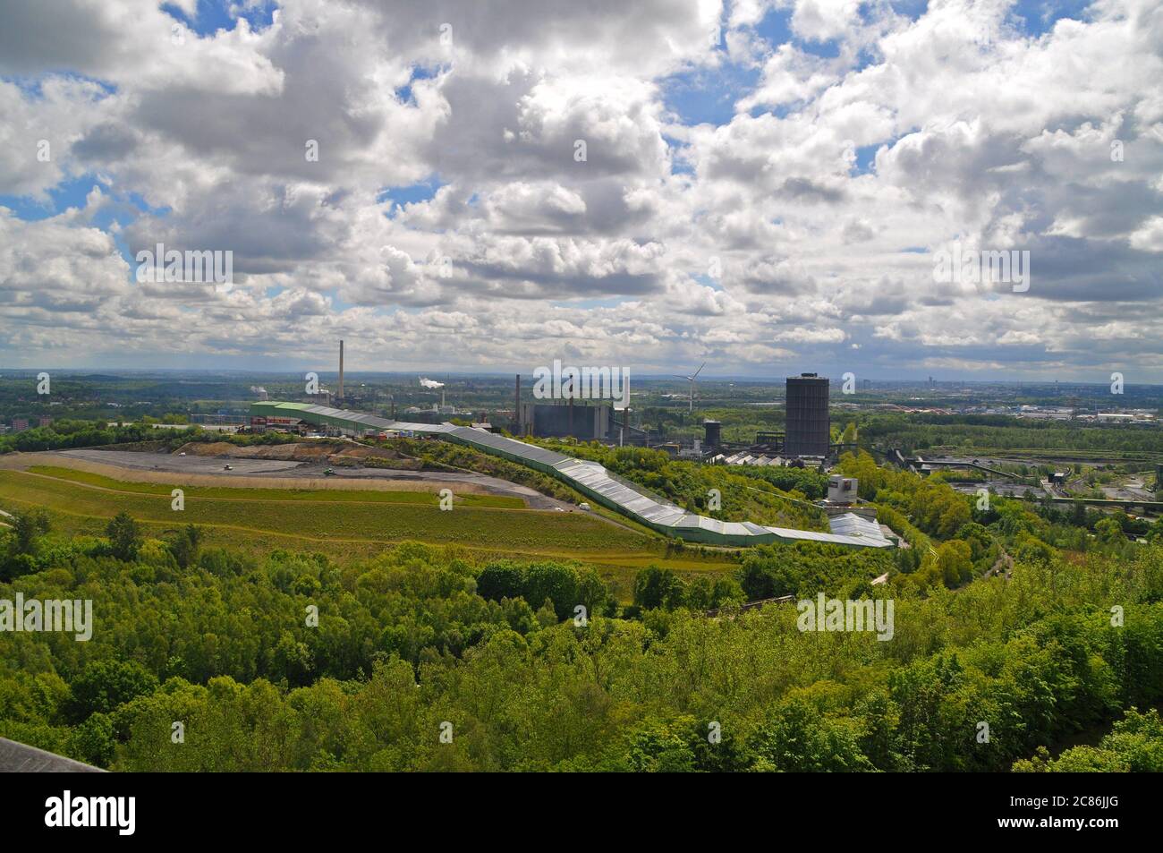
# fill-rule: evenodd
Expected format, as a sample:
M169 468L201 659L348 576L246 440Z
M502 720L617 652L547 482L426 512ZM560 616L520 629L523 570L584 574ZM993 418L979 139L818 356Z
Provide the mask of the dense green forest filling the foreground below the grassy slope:
M921 488L894 476L870 488ZM0 638L0 735L117 770L1163 769L1163 541L1064 552L1036 513L951 513L919 535L971 557L977 525L1014 548L1008 578L950 590L800 543L734 576L643 569L629 604L566 562L256 559L19 513L0 599L92 599L95 627ZM892 641L737 607L818 590L893 597Z

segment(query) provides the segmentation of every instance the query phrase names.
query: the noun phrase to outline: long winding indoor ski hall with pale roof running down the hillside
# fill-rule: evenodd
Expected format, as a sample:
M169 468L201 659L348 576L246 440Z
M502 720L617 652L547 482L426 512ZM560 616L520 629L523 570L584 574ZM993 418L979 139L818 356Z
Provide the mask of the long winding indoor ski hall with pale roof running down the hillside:
M408 433L430 435L443 441L466 445L481 453L500 456L548 474L609 510L627 516L657 533L682 538L687 542L749 546L768 542L814 541L855 548L892 547L892 542L883 535L879 527L875 525L859 526L843 516L832 519L830 525L834 531L842 527L844 533L768 527L750 521L721 521L698 516L649 495L642 486L623 481L597 462L573 459L472 427L387 420L362 412L304 403L251 403L250 413L255 428L259 429L265 428L265 425L273 420L279 420L292 421L295 426L307 424L317 429L351 436Z

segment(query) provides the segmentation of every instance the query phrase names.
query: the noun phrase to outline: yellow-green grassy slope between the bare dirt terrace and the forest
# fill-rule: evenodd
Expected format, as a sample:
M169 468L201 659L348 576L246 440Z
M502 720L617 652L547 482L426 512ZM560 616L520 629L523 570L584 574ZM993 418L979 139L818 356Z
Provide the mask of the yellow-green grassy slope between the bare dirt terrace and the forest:
M437 497L426 492L188 488L186 509L177 512L170 509L172 488L71 469L52 476L40 469L0 470L0 509L44 507L53 529L69 535L101 535L106 521L124 510L147 525L149 535L160 538L181 525L198 524L206 531L207 545L255 554L288 548L361 557L412 539L481 555L575 560L594 566L626 600L634 574L647 566L665 566L686 576L729 571L736 566L694 554L666 556L659 538L591 514L479 503L508 498L465 496L457 498L454 510L442 512Z

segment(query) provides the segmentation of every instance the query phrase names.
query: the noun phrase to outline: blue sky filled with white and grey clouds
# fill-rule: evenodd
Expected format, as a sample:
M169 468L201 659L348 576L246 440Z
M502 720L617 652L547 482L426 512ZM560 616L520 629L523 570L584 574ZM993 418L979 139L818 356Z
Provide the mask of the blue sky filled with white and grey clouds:
M1161 80L1161 0L0 0L0 367L1158 383Z

